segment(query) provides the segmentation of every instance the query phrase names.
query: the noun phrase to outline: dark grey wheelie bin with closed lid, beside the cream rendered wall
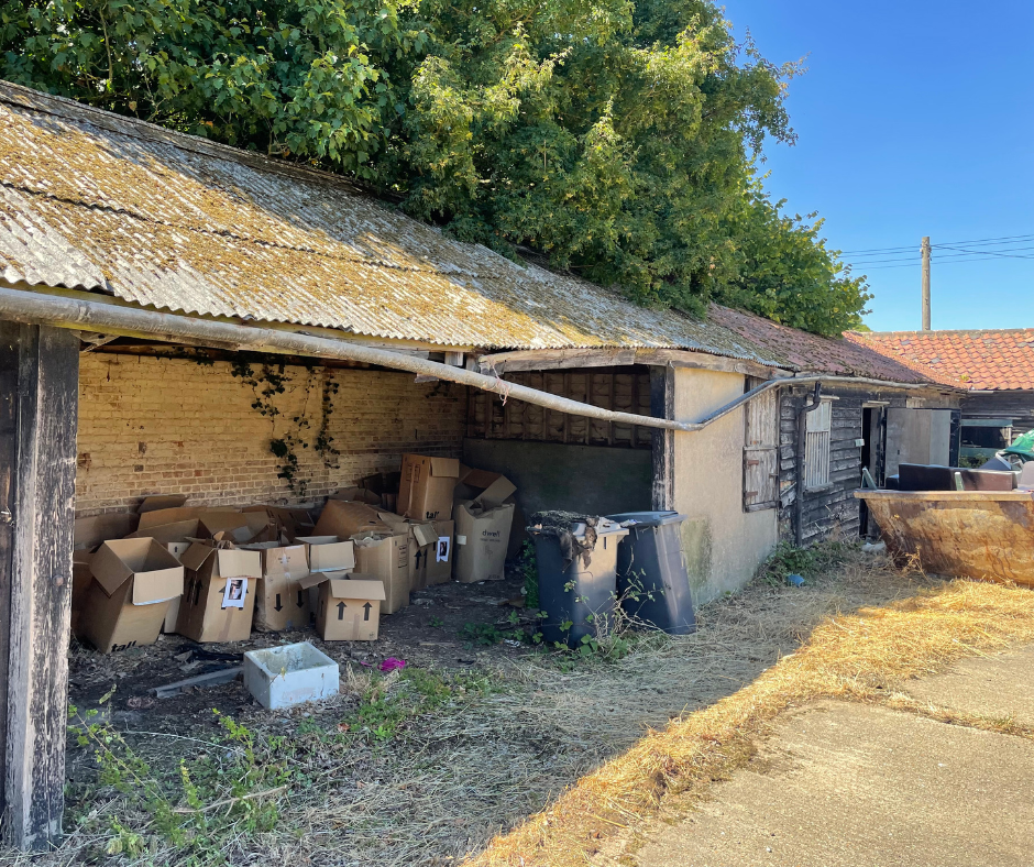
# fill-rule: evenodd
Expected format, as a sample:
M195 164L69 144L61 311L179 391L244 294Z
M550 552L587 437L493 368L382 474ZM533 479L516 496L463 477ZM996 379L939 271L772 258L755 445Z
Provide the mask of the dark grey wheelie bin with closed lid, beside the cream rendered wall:
M622 607L629 616L669 635L695 632L693 594L682 557L685 515L625 512L607 517L628 529L628 536L617 550L617 591Z

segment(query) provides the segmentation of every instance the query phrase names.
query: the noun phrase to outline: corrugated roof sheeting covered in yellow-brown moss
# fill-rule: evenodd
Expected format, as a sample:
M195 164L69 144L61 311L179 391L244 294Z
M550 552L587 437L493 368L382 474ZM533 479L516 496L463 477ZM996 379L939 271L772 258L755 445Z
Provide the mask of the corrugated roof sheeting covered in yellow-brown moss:
M452 241L333 175L0 84L0 275L446 345L781 360L713 321Z

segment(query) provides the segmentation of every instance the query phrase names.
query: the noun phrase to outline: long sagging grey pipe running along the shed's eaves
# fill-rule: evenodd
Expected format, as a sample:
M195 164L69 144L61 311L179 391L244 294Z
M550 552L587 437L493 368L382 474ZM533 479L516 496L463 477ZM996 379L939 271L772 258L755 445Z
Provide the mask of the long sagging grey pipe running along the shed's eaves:
M616 413L592 404L583 404L566 397L540 392L526 385L506 382L498 376L488 376L462 367L453 367L437 361L414 358L386 349L364 347L346 340L262 328L253 325L237 325L193 316L179 316L139 307L122 307L114 304L90 300L64 295L43 295L21 289L0 287L0 318L28 325L53 326L76 330L100 331L106 334L146 337L166 342L190 341L217 347L232 347L235 350L254 352L280 352L321 359L339 359L381 367L408 371L418 376L432 376L438 380L494 392L504 400L513 397L527 404L566 413L574 416L595 418L624 425L675 430L692 434L717 421L719 418L738 409L759 394L780 385L794 385L812 382L843 382L862 385L877 385L889 388L923 388L928 384L895 383L883 380L869 380L856 376L787 376L769 380L729 402L725 406L705 416L700 421L675 421L668 418L640 416L635 413Z

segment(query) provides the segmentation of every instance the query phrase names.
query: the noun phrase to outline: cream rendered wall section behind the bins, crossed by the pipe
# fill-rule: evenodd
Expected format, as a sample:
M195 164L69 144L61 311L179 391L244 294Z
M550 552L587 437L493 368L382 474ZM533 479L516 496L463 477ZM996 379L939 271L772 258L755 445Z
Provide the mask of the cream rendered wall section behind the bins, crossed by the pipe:
M675 371L675 418L696 421L744 393L744 376ZM744 588L777 541L777 511L744 512L744 410L675 434L674 502L696 604Z

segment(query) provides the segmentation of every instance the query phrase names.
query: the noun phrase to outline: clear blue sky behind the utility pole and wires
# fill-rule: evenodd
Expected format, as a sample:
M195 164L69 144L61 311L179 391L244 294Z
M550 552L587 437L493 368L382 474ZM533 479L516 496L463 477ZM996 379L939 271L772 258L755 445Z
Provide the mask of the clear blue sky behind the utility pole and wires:
M834 248L915 251L845 255L876 295L866 323L920 327L919 265L887 265L917 263L930 235L935 329L1034 325L1034 2L726 0L725 10L773 63L809 55L790 83L799 142L767 147L773 196L818 211ZM1014 235L1028 240L975 249L1030 259L953 262L943 256L957 251L936 249Z

